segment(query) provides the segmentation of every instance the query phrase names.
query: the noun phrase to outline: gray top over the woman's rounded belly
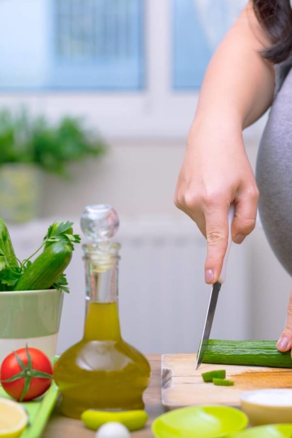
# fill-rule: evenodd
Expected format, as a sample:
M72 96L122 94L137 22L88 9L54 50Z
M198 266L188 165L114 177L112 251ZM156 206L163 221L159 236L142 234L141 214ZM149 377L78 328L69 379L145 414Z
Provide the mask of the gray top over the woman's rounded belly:
M267 239L292 275L292 62L276 67L276 93L256 163L259 214Z

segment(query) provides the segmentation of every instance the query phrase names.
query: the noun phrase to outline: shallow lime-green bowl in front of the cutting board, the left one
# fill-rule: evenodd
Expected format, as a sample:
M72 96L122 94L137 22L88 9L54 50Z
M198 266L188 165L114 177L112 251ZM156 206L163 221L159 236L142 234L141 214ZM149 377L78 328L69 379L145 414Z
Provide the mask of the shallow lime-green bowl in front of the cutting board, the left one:
M190 406L161 415L152 424L156 438L223 438L248 425L247 416L228 406Z

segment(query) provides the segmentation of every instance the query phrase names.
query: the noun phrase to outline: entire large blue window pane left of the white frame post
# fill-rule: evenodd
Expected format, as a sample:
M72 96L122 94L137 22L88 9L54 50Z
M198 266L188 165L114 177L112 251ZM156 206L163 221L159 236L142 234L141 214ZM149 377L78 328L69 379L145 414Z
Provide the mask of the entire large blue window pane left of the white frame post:
M0 88L143 88L143 15L144 0L0 2Z

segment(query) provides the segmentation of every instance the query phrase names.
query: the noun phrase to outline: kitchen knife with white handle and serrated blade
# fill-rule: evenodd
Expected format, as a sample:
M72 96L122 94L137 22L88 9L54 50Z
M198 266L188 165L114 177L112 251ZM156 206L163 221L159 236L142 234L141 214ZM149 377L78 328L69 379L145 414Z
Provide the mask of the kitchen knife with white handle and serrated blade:
M209 305L208 305L208 310L207 310L207 316L206 316L206 320L205 320L205 324L204 324L204 329L203 329L203 334L202 334L202 338L201 338L201 343L200 343L200 348L199 348L199 352L198 352L198 356L197 356L197 362L196 362L196 368L198 369L199 366L202 363L207 345L208 345L208 340L210 337L210 332L211 332L211 327L213 324L213 319L214 319L214 315L215 315L215 310L216 310L216 304L217 304L217 300L218 300L218 296L219 296L219 292L221 289L221 285L224 283L225 278L226 278L226 265L227 265L227 259L228 259L228 255L229 255L229 251L230 251L230 246L231 246L231 242L232 242L232 235L231 235L231 225L232 225L232 221L234 218L234 204L230 205L229 211L228 211L228 246L227 246L227 250L226 250L226 254L223 260L223 265L222 265L222 270L221 270L221 274L219 276L218 281L216 281L216 283L214 283L212 285L212 290L211 290L211 296L210 296L210 301L209 301Z

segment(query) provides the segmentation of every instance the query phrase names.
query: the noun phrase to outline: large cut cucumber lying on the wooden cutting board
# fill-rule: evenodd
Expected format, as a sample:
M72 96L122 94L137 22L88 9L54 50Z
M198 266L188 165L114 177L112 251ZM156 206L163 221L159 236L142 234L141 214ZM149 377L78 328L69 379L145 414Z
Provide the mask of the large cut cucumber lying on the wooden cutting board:
M223 341L209 339L205 364L292 368L291 351L281 353L276 341Z

